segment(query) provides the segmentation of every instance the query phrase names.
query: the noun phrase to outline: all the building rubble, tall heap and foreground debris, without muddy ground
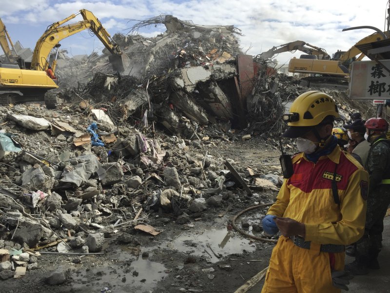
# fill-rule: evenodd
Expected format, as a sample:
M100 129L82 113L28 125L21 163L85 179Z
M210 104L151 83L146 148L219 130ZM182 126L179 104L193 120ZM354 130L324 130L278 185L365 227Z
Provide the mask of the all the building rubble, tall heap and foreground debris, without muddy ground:
M134 30L152 23L167 32L115 37L137 77L93 54L85 66L99 70L77 74L57 110L0 107L1 279L37 269L44 253L101 253L107 238L137 246L134 230L160 233L151 213L185 224L248 195L262 203L252 190L278 190L279 167L240 166L220 149L280 133L286 103L308 88L242 54L233 26L159 16ZM58 65L69 81L73 61ZM348 119L345 93L326 91Z

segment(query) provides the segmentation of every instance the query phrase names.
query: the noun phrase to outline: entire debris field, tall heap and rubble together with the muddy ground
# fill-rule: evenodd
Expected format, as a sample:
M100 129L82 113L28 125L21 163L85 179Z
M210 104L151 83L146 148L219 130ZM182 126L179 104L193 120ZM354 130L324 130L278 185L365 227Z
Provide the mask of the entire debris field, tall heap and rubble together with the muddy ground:
M151 24L166 32L137 34ZM167 15L139 21L113 37L131 60L125 74L112 70L105 50L72 58L62 51L56 109L0 106L0 279L7 292L81 292L90 277L107 293L234 292L227 286L245 283L224 285L234 266L255 259L248 251L264 257L276 238L259 225L266 207L237 219L238 229L232 217L274 201L283 180L279 118L310 88L242 52L240 35L231 25ZM374 111L348 101L345 91L321 90L345 120ZM286 151L296 151L293 142ZM194 244L189 236L184 251L172 245L178 231L201 237L212 229L260 241L238 245L245 261L239 248L224 254L212 240ZM142 260L155 262L156 276L132 267ZM31 278L35 288L16 278Z

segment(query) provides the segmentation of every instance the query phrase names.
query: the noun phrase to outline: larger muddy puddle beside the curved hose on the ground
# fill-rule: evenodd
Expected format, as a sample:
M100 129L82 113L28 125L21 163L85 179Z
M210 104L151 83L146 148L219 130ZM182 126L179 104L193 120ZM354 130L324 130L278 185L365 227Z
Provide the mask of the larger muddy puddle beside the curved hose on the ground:
M226 227L223 229L207 227L204 230L181 232L159 247L203 256L212 263L229 254L255 250L250 240L241 237L234 230L227 230Z

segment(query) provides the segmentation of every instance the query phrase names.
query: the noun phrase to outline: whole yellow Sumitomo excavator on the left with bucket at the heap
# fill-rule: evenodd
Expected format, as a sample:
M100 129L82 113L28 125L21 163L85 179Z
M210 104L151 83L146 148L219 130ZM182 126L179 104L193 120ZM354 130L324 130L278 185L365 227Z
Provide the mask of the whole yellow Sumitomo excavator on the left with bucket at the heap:
M63 25L78 14L82 16L82 21ZM21 58L18 63L0 63L0 105L45 101L47 108L55 108L58 100L54 90L58 88L57 80L52 80L45 70L51 65L53 72L55 71L59 42L85 29L90 29L110 51L112 55L109 56L109 61L114 70L122 72L128 67L129 58L122 54L98 18L92 12L81 9L77 14L48 26L35 46L31 63L24 62ZM56 56L52 64L49 64L50 53L54 48L57 49ZM2 91L6 92L1 93Z

